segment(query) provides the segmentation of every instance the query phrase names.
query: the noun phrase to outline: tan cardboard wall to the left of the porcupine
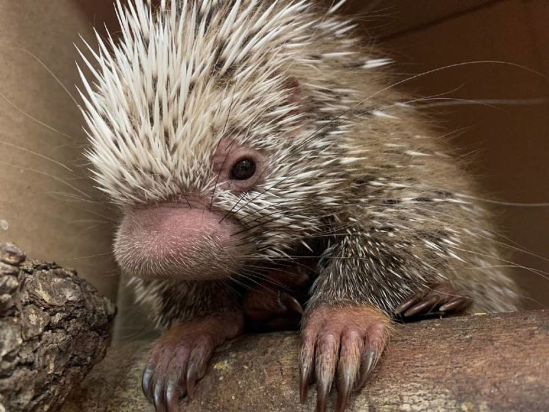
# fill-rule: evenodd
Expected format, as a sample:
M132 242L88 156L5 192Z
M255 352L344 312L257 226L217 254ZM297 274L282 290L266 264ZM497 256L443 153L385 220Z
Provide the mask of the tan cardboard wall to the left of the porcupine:
M77 268L114 298L118 276L110 255L112 225L104 205L91 203L95 193L82 157L82 118L75 102L36 60L76 95L73 43L81 44L79 33L93 41L91 29L71 0L0 0L0 93L71 136L38 124L0 97L0 220L9 225L0 229L0 241L16 242L34 258Z

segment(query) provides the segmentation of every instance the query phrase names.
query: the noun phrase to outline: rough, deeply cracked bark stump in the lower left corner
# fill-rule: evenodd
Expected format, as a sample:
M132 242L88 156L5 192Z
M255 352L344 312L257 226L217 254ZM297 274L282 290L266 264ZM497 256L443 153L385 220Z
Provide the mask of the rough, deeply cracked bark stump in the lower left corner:
M0 412L58 409L104 357L114 314L74 271L0 244Z

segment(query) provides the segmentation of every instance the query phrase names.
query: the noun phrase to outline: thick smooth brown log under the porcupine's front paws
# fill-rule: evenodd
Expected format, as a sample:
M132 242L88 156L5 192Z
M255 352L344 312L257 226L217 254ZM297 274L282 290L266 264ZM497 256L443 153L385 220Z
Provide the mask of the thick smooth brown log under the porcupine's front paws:
M62 411L154 411L139 383L147 350L143 342L110 348ZM180 410L314 411L314 390L299 404L298 351L294 333L237 339L215 354ZM548 356L547 310L401 325L349 412L546 412Z

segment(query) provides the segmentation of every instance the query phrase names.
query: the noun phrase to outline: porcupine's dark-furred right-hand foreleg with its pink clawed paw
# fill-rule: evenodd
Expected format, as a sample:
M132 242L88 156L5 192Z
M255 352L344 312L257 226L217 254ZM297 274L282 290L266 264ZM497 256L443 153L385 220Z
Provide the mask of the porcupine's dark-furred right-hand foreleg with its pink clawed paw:
M406 291L445 282L439 277L443 268L434 267L428 252L418 255L417 249L400 247L399 238L375 234L351 227L349 236L338 237L318 262L300 356L301 401L316 381L317 412L326 410L334 381L336 412L344 411L353 389L364 386L390 336L393 309Z

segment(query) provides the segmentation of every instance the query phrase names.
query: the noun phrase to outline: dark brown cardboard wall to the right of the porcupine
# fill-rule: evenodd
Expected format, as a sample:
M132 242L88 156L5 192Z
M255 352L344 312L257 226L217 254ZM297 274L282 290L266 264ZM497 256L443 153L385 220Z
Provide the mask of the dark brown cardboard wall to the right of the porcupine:
M470 154L480 196L491 201L549 203L548 22L547 1L492 1L382 39L399 71L410 75L463 62L500 62L441 69L403 84L414 95L463 99L457 104L522 100L433 112L445 130L456 132L452 144ZM513 273L526 290L527 306L549 305L549 205L484 204L495 211L498 232L509 244L509 262L502 264L524 266Z

